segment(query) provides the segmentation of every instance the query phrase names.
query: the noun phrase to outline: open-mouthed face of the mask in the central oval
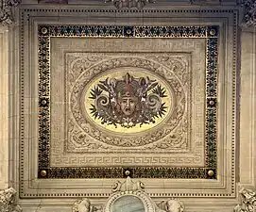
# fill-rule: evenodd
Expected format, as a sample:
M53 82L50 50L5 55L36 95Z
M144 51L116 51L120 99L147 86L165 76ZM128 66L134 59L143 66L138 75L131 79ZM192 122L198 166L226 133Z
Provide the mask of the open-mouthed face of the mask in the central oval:
M134 113L138 98L133 96L124 96L120 99L119 105L125 116L130 116Z

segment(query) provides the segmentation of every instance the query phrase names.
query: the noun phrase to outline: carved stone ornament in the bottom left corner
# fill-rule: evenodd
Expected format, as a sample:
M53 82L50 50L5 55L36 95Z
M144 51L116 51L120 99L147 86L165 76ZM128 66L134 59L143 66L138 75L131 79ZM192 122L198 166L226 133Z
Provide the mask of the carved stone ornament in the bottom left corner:
M7 188L0 191L0 211L21 212L22 208L16 203L17 191L14 188Z

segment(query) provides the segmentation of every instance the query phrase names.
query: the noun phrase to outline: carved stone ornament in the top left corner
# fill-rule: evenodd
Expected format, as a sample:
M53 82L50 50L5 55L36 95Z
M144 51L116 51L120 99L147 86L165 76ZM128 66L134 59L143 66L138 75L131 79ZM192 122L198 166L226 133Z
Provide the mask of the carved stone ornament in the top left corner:
M21 0L0 0L0 25L13 24L12 8L20 3Z

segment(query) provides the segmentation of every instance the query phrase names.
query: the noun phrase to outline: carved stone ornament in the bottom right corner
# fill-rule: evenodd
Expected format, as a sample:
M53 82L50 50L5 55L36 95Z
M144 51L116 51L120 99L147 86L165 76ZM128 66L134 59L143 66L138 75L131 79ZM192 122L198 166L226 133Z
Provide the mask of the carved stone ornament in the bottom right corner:
M242 188L239 191L242 199L242 204L237 204L234 207L234 212L255 212L256 211L256 192Z

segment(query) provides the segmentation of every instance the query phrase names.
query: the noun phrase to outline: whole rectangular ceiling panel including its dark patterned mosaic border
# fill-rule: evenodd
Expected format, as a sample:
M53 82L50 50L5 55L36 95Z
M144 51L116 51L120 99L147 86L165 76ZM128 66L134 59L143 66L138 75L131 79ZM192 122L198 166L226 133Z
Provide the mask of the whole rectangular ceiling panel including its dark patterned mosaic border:
M215 178L218 33L39 25L39 178Z

